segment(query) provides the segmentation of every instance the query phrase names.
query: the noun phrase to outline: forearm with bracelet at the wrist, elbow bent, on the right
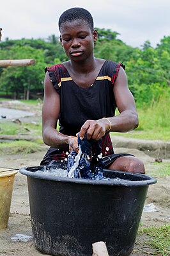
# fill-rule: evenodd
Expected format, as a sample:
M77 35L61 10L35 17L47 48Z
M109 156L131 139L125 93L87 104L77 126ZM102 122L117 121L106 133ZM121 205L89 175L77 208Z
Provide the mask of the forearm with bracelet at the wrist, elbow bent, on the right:
M111 125L107 119L109 119ZM104 119L105 130L107 131L111 128L109 130L110 132L130 132L137 128L139 124L137 113L131 110L125 110L121 114L114 117L107 117L107 119Z

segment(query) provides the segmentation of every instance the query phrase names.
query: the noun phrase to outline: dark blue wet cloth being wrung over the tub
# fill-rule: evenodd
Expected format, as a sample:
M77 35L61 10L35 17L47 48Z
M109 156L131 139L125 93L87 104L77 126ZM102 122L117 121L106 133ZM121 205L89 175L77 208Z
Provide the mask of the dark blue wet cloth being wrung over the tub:
M78 136L79 153L77 154L74 150L68 155L67 171L68 176L71 178L88 178L98 179L104 178L103 168L105 164L102 160L102 139L94 141L93 139L88 140L86 133L84 139L80 139ZM88 161L92 153L91 160Z

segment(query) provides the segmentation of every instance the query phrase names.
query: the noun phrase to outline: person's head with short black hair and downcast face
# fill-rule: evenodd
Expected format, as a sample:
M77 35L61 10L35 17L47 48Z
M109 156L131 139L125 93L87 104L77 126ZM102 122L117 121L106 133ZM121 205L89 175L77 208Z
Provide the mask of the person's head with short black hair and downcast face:
M83 61L93 57L94 42L98 38L91 14L83 8L71 8L59 17L60 42L68 58Z

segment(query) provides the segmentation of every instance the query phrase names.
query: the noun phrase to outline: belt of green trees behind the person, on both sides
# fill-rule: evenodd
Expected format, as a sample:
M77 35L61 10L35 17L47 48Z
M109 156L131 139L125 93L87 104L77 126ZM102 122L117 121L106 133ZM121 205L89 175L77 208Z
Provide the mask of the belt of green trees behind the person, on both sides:
M164 92L169 93L170 37L162 38L155 49L151 47L150 41L144 42L139 49L127 46L119 40L119 33L116 31L100 28L97 30L95 56L126 65L128 85L139 107L150 106L157 102ZM44 68L68 60L59 38L55 35L50 35L47 40L6 38L0 44L0 59L14 58L34 58L36 65L1 68L0 90L13 98L24 99L43 96Z

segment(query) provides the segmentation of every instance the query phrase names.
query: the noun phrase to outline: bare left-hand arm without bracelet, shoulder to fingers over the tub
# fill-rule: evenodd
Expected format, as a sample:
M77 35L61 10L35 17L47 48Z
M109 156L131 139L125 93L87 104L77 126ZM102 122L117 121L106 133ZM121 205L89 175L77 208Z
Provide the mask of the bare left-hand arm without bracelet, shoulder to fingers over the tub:
M64 135L56 130L60 112L60 96L54 89L49 78L45 74L44 99L42 107L42 136L43 142L54 148L69 145L69 149L77 151L77 137Z

